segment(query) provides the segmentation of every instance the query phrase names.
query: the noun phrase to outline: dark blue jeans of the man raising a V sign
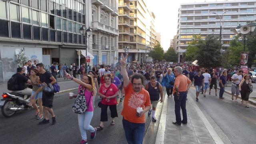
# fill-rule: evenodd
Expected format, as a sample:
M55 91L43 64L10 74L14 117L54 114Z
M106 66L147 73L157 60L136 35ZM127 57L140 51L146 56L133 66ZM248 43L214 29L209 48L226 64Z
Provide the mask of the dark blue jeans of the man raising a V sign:
M145 123L133 123L123 117L123 127L128 144L142 144L145 132Z

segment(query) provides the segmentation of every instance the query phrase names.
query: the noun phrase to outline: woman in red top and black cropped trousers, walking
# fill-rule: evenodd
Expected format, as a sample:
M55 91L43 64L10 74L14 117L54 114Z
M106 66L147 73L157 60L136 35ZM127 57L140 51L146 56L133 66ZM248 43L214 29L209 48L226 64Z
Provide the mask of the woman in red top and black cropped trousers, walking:
M105 83L100 86L99 95L102 97L101 101L101 113L100 113L100 125L97 129L101 130L104 128L103 122L108 121L108 106L111 112L112 122L111 125L115 124L114 118L118 117L116 110L116 97L119 95L116 85L112 84L113 77L111 74L104 75Z

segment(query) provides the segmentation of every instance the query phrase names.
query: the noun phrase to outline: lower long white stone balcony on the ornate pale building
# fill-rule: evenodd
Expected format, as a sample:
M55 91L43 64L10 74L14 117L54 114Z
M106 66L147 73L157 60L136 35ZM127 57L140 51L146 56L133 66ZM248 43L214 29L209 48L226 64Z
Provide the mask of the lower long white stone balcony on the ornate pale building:
M115 34L115 35L118 35L118 31L119 31L119 30L116 30L115 28L107 26L106 24L102 24L96 21L92 22L92 29L98 30L98 31L104 31L106 33Z

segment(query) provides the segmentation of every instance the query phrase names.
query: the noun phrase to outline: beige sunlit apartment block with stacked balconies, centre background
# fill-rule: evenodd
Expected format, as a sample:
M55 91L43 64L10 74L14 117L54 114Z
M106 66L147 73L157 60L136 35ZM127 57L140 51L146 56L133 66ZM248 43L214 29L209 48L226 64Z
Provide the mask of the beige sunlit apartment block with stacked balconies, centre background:
M155 44L154 13L146 8L144 0L118 0L118 59L129 47L128 62L146 61L146 53Z

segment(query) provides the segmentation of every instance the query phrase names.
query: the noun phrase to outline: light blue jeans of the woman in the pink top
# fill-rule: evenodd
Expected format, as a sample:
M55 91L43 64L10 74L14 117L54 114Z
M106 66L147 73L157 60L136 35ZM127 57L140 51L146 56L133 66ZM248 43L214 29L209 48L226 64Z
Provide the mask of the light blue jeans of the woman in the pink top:
M93 116L92 112L84 112L84 114L78 114L78 125L80 128L81 136L83 140L87 140L86 130L94 132L94 128L90 125Z

